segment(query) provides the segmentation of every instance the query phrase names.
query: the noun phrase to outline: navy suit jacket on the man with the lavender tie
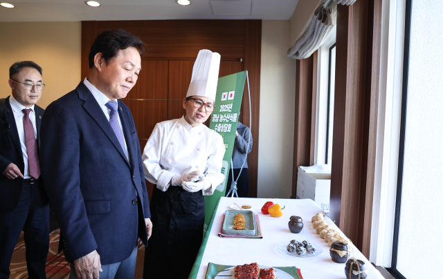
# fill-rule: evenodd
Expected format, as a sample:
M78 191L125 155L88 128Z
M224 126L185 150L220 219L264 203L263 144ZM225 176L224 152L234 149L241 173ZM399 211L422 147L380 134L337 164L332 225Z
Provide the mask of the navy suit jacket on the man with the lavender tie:
M129 257L150 218L140 144L131 111L118 101L129 162L83 81L46 108L41 169L60 224L66 260L97 250L102 264ZM136 202L138 200L138 202Z

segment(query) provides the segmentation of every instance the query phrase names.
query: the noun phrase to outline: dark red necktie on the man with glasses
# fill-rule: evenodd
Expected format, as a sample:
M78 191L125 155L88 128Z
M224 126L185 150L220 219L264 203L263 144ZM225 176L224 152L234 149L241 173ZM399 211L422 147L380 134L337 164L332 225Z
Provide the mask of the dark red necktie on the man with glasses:
M26 150L28 151L29 174L38 179L40 176L39 158L37 155L37 141L35 140L35 132L33 122L30 122L30 108L24 108L23 127L25 131Z

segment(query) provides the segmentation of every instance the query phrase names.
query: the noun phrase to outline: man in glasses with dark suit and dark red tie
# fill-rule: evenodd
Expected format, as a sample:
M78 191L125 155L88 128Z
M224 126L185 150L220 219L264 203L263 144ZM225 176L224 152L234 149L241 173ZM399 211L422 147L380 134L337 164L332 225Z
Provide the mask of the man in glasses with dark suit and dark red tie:
M39 167L37 106L44 89L42 68L33 61L9 69L12 96L0 99L0 278L9 278L10 261L24 231L29 278L46 278L49 205Z

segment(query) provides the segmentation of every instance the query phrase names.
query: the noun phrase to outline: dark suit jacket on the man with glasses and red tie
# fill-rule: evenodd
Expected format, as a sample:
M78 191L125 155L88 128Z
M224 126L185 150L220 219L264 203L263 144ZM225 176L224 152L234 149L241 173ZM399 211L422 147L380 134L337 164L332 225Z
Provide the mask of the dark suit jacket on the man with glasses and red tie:
M39 130L40 125L42 124L42 119L40 116L43 116L44 109L35 105L34 111L35 124L37 126L37 147L39 147ZM19 203L21 186L23 186L23 178L17 177L13 180L9 180L2 173L10 163L16 164L21 173L24 173L25 168L19 132L17 131L17 124L15 123L14 113L12 112L9 97L6 98L5 114L2 113L0 115L0 119L2 120L0 121L0 211L7 213L14 210ZM44 189L42 184L40 187ZM45 200L45 203L47 203L47 200Z

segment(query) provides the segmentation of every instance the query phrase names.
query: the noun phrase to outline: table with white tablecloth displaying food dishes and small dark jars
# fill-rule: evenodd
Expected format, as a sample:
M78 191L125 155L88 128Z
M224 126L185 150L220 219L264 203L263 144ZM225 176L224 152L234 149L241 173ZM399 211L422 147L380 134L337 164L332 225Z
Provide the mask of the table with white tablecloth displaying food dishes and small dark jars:
M280 204L283 216L273 218L261 212L265 202L272 201ZM260 227L262 229L262 239L253 238L220 238L217 233L223 213L228 210L228 206L236 202L240 206L249 204L252 211L258 214ZM194 264L190 278L205 278L208 262L215 264L237 265L257 262L269 267L297 267L301 270L304 279L344 279L345 264L338 264L331 260L329 256L329 245L320 238L320 235L312 228L311 218L316 213L324 213L313 200L284 200L284 199L255 199L255 198L220 198L212 222L209 225L204 241L201 244L199 256ZM300 233L291 233L288 222L291 215L300 216L304 227ZM340 231L332 221L325 216L325 222L332 229ZM321 247L323 253L314 258L296 258L287 256L277 250L278 243L290 240L310 241L314 247ZM375 269L363 254L356 250L351 254L365 262L368 267L368 278L383 279L383 276Z

